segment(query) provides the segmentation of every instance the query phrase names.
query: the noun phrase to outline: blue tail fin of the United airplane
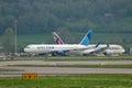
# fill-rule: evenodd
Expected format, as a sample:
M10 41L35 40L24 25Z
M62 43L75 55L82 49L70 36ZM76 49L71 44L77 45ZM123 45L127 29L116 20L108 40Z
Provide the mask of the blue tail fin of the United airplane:
M80 45L88 45L90 42L90 38L91 38L91 34L92 34L92 31L88 31L79 44Z

